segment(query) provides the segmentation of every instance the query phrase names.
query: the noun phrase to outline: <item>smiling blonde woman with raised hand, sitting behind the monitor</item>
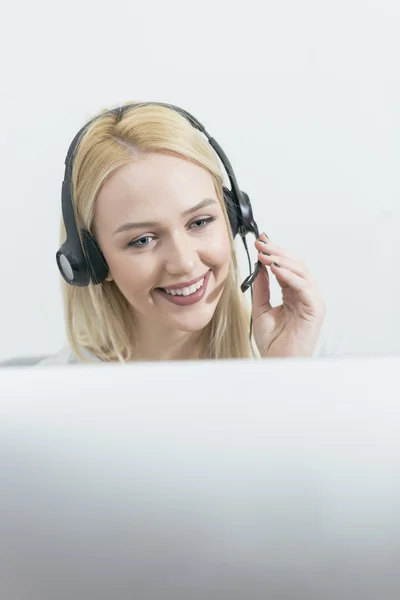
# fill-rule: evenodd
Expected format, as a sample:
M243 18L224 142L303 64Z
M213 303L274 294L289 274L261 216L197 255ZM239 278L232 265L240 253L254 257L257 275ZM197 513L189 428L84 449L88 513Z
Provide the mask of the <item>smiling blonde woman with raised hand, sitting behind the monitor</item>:
M76 136L61 238L72 236L70 202L92 277L69 280L73 253L69 264L59 251L70 347L41 364L316 354L324 301L306 266L265 234L255 241L249 309L216 146L187 117L168 105L126 105ZM277 307L267 268L282 288Z

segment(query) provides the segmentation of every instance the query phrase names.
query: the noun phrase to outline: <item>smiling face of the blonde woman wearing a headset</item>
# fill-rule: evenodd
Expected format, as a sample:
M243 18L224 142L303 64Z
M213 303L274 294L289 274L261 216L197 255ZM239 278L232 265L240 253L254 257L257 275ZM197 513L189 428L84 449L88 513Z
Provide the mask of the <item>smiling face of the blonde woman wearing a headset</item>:
M209 323L231 245L207 171L169 154L135 158L103 185L94 224L110 276L146 328Z

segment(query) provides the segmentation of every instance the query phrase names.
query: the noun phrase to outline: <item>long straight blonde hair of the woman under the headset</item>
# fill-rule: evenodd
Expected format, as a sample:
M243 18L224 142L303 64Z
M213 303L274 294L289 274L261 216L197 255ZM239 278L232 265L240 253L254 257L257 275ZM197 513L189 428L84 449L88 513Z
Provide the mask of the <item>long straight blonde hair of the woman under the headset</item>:
M200 358L248 358L250 312L239 289L239 270L225 203L223 176L205 137L177 111L155 105L127 109L123 117L102 111L88 127L76 151L73 201L78 228L93 234L96 198L105 180L135 156L174 153L204 168L214 180L231 239L229 274L217 308L200 334ZM61 221L61 243L66 237ZM140 360L134 343L134 318L128 301L113 281L87 287L62 280L66 329L75 355L85 349L103 361Z

